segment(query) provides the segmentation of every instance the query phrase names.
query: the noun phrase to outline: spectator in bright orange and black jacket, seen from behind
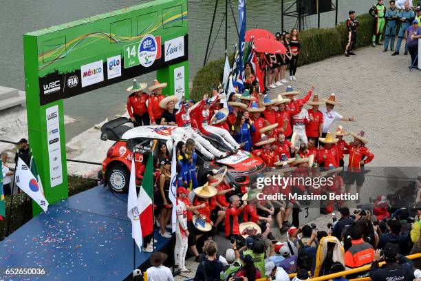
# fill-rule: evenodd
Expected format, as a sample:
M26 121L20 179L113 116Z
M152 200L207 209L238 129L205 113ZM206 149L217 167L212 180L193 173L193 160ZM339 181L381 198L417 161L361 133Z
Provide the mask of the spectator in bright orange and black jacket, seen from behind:
M364 242L363 230L353 227L350 231L352 246L345 252L345 265L349 268L362 267L369 264L374 258L374 248Z

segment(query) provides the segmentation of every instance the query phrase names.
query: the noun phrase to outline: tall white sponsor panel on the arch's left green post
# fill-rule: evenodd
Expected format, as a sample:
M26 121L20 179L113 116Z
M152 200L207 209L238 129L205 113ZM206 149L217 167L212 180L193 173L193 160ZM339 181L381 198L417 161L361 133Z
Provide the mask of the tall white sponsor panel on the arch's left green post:
M45 110L47 119L47 147L50 163L50 185L55 187L63 183L63 167L61 166L60 123L58 122L58 105Z

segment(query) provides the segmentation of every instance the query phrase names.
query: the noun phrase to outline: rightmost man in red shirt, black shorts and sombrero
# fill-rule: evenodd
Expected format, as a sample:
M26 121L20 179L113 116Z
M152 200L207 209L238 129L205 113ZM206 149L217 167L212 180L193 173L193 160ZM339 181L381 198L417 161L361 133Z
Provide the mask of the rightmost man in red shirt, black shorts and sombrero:
M364 137L364 131L358 134L351 133L354 136L354 142L349 143L348 149L345 149L344 154L349 154L349 163L347 176L345 178L345 190L349 192L351 185L356 181L356 193L358 195L357 203L360 201L359 194L365 180L364 165L370 163L374 158L374 154L365 147L368 143L367 138Z

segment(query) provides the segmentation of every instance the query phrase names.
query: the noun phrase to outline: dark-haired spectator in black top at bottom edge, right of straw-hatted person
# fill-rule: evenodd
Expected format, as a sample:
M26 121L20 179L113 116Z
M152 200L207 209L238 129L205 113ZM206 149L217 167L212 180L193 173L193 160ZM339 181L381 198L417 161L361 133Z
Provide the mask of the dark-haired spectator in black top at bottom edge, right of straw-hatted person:
M199 263L194 281L216 281L221 277L222 262L217 258L216 244L209 244L206 248L206 260ZM153 279L151 279L153 280Z

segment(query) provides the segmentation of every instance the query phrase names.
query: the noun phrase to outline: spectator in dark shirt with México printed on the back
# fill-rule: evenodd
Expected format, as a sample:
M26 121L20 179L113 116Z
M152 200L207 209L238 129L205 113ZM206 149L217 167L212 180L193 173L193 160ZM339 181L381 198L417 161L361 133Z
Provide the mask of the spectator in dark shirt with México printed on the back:
M373 281L385 280L413 280L413 266L411 260L398 253L396 244L386 244L383 251L379 249L371 263L369 276ZM385 260L384 267L379 268L378 262Z

